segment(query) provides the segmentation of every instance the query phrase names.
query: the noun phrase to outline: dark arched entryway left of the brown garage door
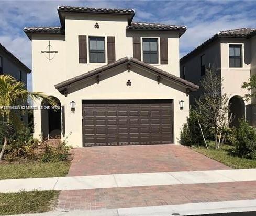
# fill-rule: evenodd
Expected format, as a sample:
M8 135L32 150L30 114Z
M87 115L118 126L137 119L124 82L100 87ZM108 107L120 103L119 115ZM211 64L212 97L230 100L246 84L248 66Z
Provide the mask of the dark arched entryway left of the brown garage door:
M57 101L60 109L52 109L46 101L41 102L41 131L43 139L59 139L61 138L61 103L58 98L53 97ZM48 109L50 107L50 109Z

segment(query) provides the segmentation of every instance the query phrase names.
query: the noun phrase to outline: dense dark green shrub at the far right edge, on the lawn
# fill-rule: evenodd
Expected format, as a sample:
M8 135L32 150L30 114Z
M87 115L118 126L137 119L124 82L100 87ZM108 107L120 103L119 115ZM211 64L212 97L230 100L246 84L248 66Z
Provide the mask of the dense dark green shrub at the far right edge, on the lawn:
M256 159L256 130L241 120L235 130L235 153L239 157Z

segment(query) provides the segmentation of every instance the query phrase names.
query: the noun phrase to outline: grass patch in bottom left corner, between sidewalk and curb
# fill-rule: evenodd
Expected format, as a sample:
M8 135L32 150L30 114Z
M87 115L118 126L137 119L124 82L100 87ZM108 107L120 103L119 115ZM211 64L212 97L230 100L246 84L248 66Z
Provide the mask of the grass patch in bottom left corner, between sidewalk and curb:
M0 193L0 215L47 212L57 203L59 191Z

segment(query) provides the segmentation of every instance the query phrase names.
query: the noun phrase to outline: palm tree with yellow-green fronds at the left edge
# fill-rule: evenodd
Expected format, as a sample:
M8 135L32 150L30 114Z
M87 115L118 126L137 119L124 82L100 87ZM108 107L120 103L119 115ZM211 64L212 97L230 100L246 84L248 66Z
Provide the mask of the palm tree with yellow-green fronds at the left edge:
M51 105L57 105L54 98L42 92L29 92L25 84L17 81L12 75L0 75L0 118L4 124L9 125L12 123L16 129L19 129L23 124L20 119L21 113L17 112L17 110L9 109L9 107L27 104L29 99L42 99ZM0 142L2 141L0 140ZM2 160L7 142L8 135L4 136L4 145L0 152L0 161Z

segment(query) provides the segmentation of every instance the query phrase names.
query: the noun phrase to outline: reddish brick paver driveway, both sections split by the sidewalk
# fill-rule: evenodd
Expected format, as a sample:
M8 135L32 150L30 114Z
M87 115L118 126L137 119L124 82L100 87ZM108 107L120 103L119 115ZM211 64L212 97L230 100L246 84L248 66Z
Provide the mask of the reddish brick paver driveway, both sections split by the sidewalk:
M74 149L68 176L221 169L230 168L184 146L103 146ZM61 191L58 207L96 210L256 198L255 186L235 182L69 190Z

